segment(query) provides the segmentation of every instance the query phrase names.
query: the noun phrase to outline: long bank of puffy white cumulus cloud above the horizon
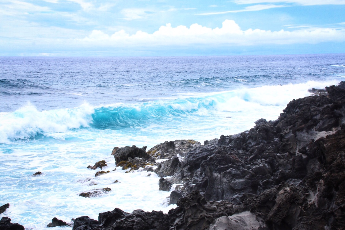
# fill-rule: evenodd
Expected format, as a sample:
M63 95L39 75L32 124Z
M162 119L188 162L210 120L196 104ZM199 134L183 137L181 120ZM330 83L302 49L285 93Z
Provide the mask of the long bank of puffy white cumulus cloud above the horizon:
M261 29L242 30L233 20L225 20L221 28L208 28L197 23L172 27L170 23L161 26L153 33L137 31L130 35L120 30L108 35L100 30L93 30L79 42L91 42L112 47L121 46L248 46L263 44L317 44L320 42L345 41L345 29L309 28L294 31L270 31Z

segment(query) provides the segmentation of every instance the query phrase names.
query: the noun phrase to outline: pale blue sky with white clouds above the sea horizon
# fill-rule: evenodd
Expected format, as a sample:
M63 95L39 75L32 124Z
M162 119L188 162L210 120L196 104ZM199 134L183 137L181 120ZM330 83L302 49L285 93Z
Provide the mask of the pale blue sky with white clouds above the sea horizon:
M345 0L0 0L0 56L345 53Z

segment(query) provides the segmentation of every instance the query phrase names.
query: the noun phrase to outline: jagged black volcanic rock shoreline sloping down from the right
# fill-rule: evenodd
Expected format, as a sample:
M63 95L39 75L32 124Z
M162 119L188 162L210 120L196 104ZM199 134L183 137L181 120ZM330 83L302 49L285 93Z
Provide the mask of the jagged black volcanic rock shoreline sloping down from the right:
M276 121L259 119L249 131L204 145L115 147L117 166L157 173L177 208L116 208L98 220L73 219L73 230L345 229L345 82L313 93L291 101ZM1 229L20 229L4 218Z

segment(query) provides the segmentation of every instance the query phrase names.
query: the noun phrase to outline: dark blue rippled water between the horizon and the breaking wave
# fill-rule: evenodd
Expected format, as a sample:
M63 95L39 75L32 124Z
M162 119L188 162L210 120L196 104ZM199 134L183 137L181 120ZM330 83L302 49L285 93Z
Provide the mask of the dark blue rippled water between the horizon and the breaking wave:
M327 81L345 55L229 57L1 57L0 111L147 102L181 93Z

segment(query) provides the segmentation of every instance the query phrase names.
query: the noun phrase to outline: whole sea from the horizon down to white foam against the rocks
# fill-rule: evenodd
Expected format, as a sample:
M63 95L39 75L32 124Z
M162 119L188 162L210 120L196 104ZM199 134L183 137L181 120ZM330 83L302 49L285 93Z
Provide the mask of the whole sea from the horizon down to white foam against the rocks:
M168 212L176 205L155 173L112 171L115 146L203 144L275 120L308 89L342 80L345 54L0 57L0 206L10 204L0 218L36 230L116 207ZM95 177L100 169L87 166L100 160L110 173Z

